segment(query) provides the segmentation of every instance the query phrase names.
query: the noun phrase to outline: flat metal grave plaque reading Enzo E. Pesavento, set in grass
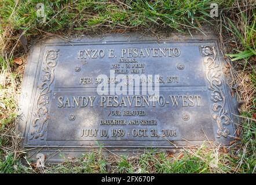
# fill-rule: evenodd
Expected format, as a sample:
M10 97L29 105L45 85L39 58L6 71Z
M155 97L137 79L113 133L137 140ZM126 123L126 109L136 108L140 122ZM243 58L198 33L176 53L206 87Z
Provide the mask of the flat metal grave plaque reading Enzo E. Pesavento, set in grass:
M228 145L235 106L216 40L106 36L32 47L19 127L28 155ZM137 81L136 81L137 80Z

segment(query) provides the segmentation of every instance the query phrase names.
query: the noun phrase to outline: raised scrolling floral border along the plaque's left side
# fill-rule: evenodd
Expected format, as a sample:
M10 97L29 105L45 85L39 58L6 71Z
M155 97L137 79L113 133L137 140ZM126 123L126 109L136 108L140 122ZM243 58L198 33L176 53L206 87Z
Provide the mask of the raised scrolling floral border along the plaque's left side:
M47 123L49 120L49 95L50 86L54 80L54 66L57 64L59 50L47 50L45 61L43 61L41 83L39 83L39 95L36 99L35 119L32 121L32 131L29 133L29 139L45 139Z

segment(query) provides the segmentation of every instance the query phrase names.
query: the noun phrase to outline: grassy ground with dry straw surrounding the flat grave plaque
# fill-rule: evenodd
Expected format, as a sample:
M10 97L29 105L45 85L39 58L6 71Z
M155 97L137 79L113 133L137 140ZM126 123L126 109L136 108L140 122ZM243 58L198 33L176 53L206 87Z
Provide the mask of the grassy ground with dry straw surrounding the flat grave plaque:
M255 1L43 1L46 21L36 16L38 1L0 2L0 172L1 173L255 173L256 172L256 12ZM104 156L104 146L81 158L36 168L22 164L25 151L16 134L19 95L27 47L44 38L140 32L201 32L207 25L219 35L232 96L239 101L237 137L229 147L204 145L166 153L148 149L134 156Z

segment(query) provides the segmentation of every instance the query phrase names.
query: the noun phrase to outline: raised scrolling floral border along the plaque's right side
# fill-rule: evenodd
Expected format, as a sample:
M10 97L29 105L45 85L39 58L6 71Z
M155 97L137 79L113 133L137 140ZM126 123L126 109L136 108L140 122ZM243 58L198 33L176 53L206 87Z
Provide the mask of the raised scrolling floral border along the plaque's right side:
M209 82L209 90L211 93L211 101L213 101L213 119L217 122L218 131L217 138L223 136L232 137L229 129L225 128L225 125L231 123L231 119L228 116L228 110L225 110L226 98L222 91L221 69L215 61L216 51L214 46L201 46L200 47L204 66L206 66L206 79Z

